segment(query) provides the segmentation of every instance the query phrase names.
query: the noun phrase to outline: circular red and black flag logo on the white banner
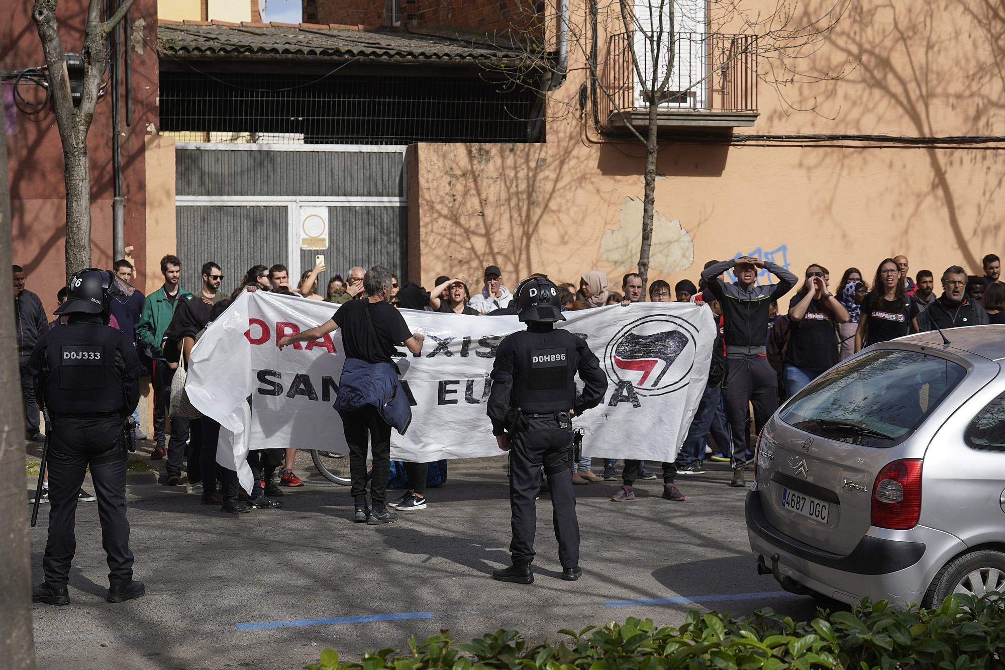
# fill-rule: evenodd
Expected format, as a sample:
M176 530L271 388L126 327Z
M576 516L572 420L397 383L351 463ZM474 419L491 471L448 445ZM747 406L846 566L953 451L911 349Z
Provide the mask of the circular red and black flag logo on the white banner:
M607 375L638 395L663 395L685 388L694 366L697 326L676 316L636 319L611 338L604 350Z

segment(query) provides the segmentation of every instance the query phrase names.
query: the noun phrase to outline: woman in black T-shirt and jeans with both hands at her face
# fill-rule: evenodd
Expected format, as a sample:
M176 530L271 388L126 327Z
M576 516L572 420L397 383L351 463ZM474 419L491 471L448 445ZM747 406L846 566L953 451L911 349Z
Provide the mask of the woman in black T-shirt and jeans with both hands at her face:
M837 364L834 329L847 321L848 310L827 289L827 270L818 265L807 268L803 288L789 302L789 342L782 370L787 396Z

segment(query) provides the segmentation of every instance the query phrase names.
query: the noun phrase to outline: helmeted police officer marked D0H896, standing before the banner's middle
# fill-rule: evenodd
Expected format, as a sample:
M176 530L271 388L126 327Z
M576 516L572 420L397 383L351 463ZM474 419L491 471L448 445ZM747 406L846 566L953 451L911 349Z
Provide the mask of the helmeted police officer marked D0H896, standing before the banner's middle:
M562 578L574 581L579 567L579 522L573 492L572 416L595 407L607 390L600 361L579 336L555 329L565 321L558 289L533 277L517 287L520 320L527 330L507 336L492 365L488 416L499 449L510 452L513 565L493 570L499 581L533 583L535 498L544 468L551 488ZM575 375L584 383L576 394Z

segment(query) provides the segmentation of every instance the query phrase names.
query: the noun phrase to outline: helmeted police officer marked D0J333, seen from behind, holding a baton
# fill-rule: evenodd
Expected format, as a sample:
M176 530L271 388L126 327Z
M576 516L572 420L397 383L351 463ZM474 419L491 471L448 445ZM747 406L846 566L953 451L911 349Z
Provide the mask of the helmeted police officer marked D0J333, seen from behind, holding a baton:
M108 553L110 603L140 598L133 580L133 553L126 520L127 418L139 401L143 374L132 341L108 325L112 300L128 299L133 287L93 268L70 279L69 300L56 309L67 323L47 331L28 362L37 397L47 410L49 537L42 558L45 580L31 600L68 605L66 581L76 549L73 533L77 492L86 469L94 482Z

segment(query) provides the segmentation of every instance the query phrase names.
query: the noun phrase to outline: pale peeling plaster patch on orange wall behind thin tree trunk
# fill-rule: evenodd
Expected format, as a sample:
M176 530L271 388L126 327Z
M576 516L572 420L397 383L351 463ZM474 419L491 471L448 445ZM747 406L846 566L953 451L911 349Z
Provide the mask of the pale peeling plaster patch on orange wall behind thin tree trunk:
M634 268L642 244L642 201L626 197L621 203L621 226L608 230L600 240L600 257L614 268ZM694 263L694 242L680 221L666 220L658 211L652 216L651 275L672 275Z

